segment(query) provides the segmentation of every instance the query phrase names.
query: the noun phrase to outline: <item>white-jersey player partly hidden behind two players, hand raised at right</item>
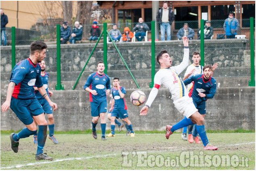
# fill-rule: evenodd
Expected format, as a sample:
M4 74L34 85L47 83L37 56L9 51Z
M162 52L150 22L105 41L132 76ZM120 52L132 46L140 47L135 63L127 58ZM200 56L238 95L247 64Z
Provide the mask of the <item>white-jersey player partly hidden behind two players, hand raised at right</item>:
M204 66L199 65L200 64L200 53L199 52L193 52L192 54L192 60L193 60L193 64L189 65L187 67L187 70L184 74L183 80L190 78L191 76L195 76L196 74L203 74L203 68ZM212 66L212 75L213 75L213 71L218 67L218 64L215 63ZM211 76L212 76L211 75ZM187 85L187 92L189 93L189 97L191 97L191 93L193 91L193 87L194 87L194 81L192 81L190 84ZM193 126L189 127L189 135L192 135L192 130L193 130ZM183 128L183 132L181 133L181 139L183 140L187 140L187 127ZM190 139L192 140L193 138L190 137ZM194 141L194 140L193 140Z

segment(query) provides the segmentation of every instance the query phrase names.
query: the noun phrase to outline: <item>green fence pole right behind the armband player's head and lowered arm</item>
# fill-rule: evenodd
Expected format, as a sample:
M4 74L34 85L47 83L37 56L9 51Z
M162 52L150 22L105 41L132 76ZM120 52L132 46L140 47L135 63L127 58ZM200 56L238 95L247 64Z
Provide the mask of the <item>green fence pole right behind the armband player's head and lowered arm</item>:
M154 87L155 76L155 21L151 21L151 82L149 87Z

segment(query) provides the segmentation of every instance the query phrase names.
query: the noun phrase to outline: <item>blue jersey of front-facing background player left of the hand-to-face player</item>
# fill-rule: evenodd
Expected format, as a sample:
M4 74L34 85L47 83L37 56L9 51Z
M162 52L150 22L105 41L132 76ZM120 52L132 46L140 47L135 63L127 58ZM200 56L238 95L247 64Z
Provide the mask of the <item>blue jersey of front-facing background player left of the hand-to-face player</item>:
M83 89L89 87L97 91L97 95L89 93L90 102L107 101L106 90L110 90L110 79L106 74L99 75L98 72L90 74L85 82Z

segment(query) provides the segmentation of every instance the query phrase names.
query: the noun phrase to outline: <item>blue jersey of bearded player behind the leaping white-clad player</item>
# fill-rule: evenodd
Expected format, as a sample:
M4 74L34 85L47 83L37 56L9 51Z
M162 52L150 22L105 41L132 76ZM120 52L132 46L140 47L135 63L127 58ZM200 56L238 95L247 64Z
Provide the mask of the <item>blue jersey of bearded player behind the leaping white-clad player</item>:
M200 103L206 101L207 99L212 99L216 93L216 80L212 77L206 82L203 80L204 74L196 74L190 78L185 79L183 82L185 85L194 81L194 87L191 94L193 101ZM198 93L206 94L206 97L200 97Z

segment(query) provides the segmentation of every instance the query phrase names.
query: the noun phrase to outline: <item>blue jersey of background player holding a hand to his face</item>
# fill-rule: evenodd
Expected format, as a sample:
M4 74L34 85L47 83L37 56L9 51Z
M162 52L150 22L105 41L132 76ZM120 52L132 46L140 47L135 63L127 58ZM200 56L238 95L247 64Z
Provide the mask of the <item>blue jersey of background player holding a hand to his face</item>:
M120 86L120 90L123 94L126 93L125 88ZM127 109L125 98L121 98L118 89L112 89L112 96L114 98L114 108L113 109Z

